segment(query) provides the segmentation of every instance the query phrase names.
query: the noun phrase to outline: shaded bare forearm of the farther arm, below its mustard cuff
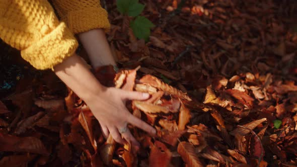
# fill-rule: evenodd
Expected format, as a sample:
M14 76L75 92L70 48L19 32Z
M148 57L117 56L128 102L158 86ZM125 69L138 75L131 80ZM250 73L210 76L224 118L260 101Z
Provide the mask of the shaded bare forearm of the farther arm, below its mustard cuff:
M103 29L90 30L78 36L94 68L109 64L116 65Z

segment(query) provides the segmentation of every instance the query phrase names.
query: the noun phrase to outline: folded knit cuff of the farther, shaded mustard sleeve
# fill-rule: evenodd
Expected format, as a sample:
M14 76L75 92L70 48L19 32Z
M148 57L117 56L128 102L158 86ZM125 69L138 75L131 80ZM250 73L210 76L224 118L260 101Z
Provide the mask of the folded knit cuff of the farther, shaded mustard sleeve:
M108 14L103 8L87 8L79 11L70 11L66 22L71 32L78 34L92 29L110 30Z

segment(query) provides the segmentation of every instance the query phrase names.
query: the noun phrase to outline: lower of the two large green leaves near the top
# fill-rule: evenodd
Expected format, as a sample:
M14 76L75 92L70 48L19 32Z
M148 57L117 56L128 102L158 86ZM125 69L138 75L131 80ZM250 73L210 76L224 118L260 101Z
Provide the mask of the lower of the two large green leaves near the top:
M133 30L133 34L138 39L148 41L148 37L150 37L151 34L150 29L155 27L155 25L145 17L137 16L136 19L130 23L130 27Z

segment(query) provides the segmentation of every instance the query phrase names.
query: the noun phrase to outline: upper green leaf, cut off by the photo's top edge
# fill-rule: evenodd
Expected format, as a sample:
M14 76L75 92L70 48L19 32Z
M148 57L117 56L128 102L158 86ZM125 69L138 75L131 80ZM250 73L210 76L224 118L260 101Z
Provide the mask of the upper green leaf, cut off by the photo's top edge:
M144 5L139 4L138 0L117 0L117 9L122 15L136 17L144 9Z

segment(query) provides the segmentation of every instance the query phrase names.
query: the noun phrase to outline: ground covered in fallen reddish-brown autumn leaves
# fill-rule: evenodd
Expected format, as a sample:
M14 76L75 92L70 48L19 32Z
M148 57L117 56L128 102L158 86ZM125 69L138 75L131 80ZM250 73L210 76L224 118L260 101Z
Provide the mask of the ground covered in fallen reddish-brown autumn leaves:
M155 24L147 43L115 1L102 3L121 70L94 73L105 85L150 93L127 107L158 135L129 126L137 154L104 139L51 71L2 44L0 166L296 166L295 1L140 2Z

